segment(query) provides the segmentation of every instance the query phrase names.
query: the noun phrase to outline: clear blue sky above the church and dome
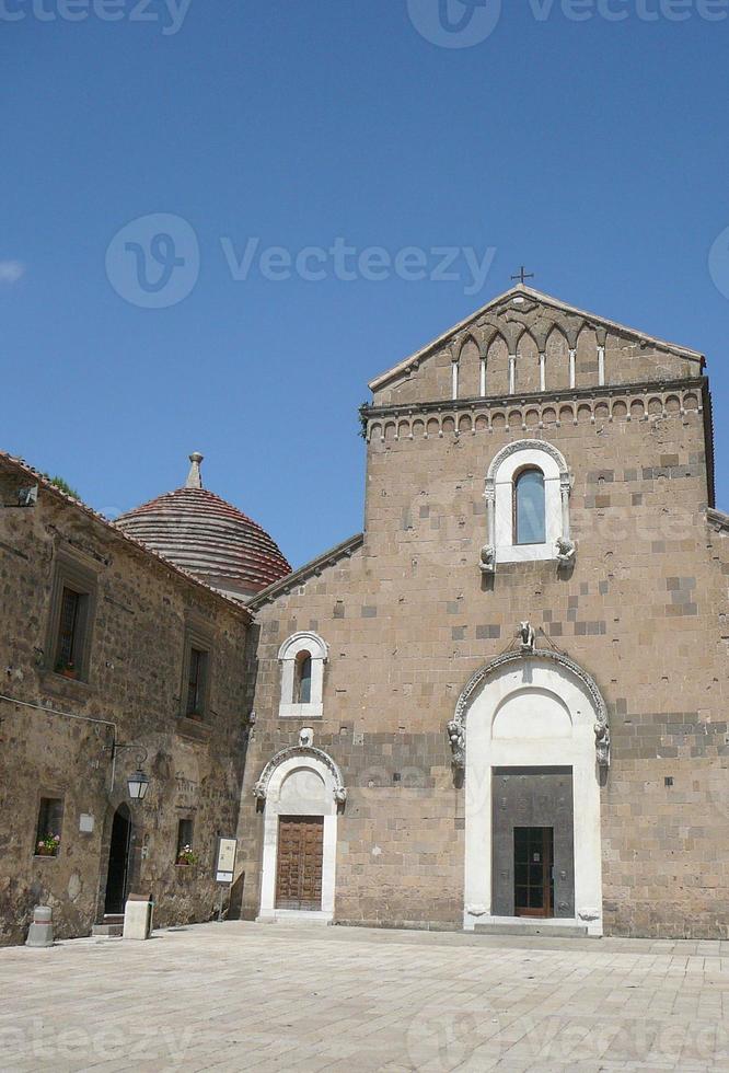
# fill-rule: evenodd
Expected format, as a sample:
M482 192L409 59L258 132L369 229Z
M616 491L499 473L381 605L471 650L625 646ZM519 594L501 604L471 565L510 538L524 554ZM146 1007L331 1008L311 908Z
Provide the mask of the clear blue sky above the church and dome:
M438 0L141 2L0 0L2 448L108 514L200 450L300 565L361 528L367 381L523 262L707 353L729 507L729 0L487 0L470 47L428 39ZM129 264L160 216L194 274L143 308ZM382 253L302 278L337 240L423 250L426 278ZM428 278L441 246L485 280L463 255Z

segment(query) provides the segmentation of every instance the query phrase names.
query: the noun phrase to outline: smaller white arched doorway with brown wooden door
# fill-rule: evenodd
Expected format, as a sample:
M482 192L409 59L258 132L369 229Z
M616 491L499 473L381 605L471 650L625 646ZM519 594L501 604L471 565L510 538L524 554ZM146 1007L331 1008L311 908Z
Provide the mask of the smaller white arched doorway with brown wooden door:
M332 758L285 749L255 787L265 801L259 919L334 919L337 819L347 792Z

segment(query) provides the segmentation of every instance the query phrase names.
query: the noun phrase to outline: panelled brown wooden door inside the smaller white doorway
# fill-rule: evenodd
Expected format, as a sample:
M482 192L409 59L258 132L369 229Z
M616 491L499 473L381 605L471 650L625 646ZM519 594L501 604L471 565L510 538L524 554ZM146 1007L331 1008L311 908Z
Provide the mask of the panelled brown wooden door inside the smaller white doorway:
M276 908L321 910L323 816L280 816Z

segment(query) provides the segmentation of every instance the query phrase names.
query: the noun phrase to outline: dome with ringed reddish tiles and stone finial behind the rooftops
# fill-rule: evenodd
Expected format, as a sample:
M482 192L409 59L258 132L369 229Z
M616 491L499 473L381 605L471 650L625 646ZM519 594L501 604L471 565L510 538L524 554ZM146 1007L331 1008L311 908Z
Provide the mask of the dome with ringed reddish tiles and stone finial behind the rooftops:
M158 555L233 599L250 599L291 573L276 542L251 518L202 487L201 454L190 454L184 488L116 519Z

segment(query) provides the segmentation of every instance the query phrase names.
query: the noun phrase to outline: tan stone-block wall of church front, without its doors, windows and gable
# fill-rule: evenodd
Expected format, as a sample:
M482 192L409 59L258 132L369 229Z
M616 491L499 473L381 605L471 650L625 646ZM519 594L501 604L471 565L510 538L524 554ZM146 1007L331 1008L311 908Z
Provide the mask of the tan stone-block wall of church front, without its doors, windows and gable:
M257 724L240 826L246 915L261 881L252 787L300 728L277 718L281 642L314 630L329 645L324 717L312 725L349 791L336 919L459 927L465 793L445 725L468 678L530 619L609 705L608 930L726 933L726 553L715 549L726 536L706 520L706 406L691 381L513 407L370 412L363 546L254 601ZM485 474L525 436L558 448L574 475L577 563L500 565L484 578Z

